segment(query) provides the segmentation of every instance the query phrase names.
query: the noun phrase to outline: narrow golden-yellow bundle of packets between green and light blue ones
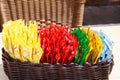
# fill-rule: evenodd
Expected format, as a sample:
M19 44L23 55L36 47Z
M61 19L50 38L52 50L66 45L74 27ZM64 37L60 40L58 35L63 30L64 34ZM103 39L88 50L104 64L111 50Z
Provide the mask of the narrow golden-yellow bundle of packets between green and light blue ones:
M90 51L86 56L85 62L96 63L102 51L102 41L95 31L90 30L90 26L88 29L82 27L82 30L87 33L87 36L90 40L88 45Z

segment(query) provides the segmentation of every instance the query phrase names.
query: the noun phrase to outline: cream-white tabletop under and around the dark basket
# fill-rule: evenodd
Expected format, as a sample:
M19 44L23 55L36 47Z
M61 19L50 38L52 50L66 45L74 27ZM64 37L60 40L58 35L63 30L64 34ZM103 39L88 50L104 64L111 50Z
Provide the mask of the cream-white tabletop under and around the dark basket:
M115 65L113 67L112 73L109 76L109 80L119 80L120 79L120 24L108 24L108 25L91 25L91 28L93 30L102 30L105 32L114 42L113 47L113 55L114 55L114 62ZM0 33L0 49L3 47L2 39L1 39L1 33ZM1 50L0 50L0 80L8 80L7 76L4 74L3 66L2 66L2 59L1 59Z

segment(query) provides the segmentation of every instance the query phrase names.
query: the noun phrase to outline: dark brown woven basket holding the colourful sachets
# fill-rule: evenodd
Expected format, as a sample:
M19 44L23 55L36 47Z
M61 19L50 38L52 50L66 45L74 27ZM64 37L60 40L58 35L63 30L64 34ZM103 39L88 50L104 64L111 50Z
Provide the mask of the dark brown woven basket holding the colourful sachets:
M108 80L113 67L113 59L80 66L74 63L61 64L32 64L10 58L2 49L4 71L10 80Z

